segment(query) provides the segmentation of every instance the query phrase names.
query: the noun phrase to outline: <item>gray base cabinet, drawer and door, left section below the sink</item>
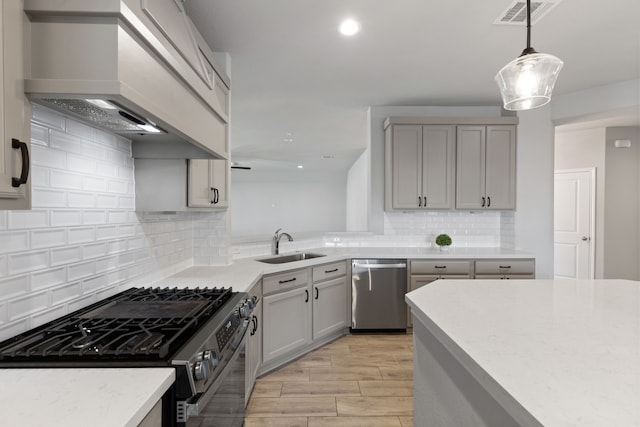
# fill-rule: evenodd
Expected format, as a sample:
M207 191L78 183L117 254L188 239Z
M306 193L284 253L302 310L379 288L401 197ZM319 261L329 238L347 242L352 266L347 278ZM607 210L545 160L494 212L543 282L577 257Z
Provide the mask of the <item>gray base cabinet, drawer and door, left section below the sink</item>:
M312 302L308 269L263 278L262 362L267 365L312 340Z

